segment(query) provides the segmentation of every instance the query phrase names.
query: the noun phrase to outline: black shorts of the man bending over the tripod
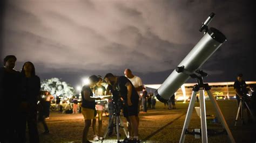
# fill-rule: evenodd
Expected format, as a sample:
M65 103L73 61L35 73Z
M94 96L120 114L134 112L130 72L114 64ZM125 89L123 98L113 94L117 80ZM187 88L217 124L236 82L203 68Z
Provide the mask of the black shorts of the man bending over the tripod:
M138 116L138 108L138 102L133 102L131 106L128 106L128 104L125 103L123 108L124 117L127 118L129 116Z

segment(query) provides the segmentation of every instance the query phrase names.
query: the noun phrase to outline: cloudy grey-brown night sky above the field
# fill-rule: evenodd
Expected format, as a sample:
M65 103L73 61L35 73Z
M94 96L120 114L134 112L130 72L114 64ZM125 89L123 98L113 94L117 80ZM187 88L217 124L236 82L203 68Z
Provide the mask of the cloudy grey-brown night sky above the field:
M1 59L14 54L17 70L32 61L42 79L72 85L91 74L123 75L125 68L144 83L161 83L203 36L198 29L214 12L210 26L227 42L203 66L206 81L233 81L238 73L253 81L254 7L242 0L5 1Z

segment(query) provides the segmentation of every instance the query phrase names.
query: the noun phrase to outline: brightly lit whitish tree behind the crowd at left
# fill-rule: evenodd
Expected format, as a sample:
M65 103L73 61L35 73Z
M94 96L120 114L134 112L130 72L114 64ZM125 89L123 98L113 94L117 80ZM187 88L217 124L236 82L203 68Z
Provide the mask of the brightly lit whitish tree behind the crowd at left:
M49 91L53 96L62 95L64 97L70 97L74 94L74 88L68 83L60 81L59 78L50 78L41 82L41 90Z

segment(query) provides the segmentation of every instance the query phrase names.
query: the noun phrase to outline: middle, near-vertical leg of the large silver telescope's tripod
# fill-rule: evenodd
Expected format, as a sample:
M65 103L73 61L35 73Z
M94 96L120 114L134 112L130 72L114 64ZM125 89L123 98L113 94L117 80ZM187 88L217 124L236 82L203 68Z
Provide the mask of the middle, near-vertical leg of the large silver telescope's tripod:
M205 111L205 92L203 89L199 90L199 95L200 95L200 115L201 115L201 137L202 137L202 142L208 142L206 111Z

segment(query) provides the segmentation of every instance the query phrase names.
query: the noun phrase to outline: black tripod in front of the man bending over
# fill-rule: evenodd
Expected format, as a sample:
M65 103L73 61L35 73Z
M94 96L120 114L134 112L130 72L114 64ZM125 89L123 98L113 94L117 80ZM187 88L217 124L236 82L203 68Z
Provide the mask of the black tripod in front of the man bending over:
M116 126L117 142L120 142L120 130L119 130L120 127L124 129L125 136L127 137L127 131L124 127L122 118L120 117L121 110L120 110L120 105L118 105L119 102L120 101L118 101L117 99L113 99L113 116L111 117L109 121L109 125L103 135L102 142L106 138L106 135L110 132L110 128L112 125ZM119 104L122 104L122 103L119 103Z

